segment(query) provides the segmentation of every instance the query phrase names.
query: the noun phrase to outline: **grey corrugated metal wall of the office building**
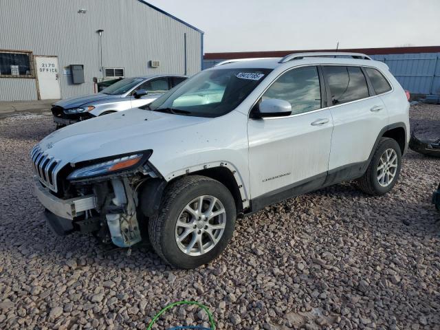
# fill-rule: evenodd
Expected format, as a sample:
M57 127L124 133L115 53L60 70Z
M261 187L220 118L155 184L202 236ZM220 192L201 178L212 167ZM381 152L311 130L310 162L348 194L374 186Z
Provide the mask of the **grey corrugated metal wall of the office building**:
M78 10L87 10L79 14ZM137 0L1 0L0 50L30 50L58 56L61 96L93 92L101 78L99 36L104 67L123 67L125 76L184 74L184 34L188 74L201 69L201 32ZM148 67L151 60L160 67ZM85 83L72 85L63 67L83 64ZM32 85L33 83L33 85ZM0 78L0 100L34 100L33 79Z

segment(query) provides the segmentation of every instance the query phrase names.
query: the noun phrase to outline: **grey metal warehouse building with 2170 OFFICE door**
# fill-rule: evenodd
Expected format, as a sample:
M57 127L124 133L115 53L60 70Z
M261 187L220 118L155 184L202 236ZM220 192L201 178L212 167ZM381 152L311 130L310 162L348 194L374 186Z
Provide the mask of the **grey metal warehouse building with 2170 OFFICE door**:
M94 80L202 65L203 32L142 0L1 0L0 31L0 100L69 98L93 93Z

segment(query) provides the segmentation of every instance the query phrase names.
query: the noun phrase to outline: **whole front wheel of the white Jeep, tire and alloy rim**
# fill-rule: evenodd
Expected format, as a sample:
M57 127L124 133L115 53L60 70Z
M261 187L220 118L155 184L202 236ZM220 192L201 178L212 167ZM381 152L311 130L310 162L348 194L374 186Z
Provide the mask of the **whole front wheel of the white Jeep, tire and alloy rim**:
M170 184L158 216L148 222L148 232L155 252L166 263L189 269L209 263L225 249L235 219L228 188L194 175Z

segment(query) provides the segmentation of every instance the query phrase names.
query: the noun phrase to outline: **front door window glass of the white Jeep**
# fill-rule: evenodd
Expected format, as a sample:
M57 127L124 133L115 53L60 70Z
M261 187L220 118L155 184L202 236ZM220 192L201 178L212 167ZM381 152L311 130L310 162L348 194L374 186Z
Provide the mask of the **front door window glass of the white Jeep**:
M292 104L292 115L321 107L318 69L299 67L278 78L263 94L262 99L278 98Z

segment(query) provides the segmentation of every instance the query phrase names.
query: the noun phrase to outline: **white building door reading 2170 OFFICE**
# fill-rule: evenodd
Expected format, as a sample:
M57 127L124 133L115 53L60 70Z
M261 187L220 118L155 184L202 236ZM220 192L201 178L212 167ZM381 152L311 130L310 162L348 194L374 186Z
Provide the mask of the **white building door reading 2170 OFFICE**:
M35 56L36 78L38 80L39 100L61 98L58 57Z

